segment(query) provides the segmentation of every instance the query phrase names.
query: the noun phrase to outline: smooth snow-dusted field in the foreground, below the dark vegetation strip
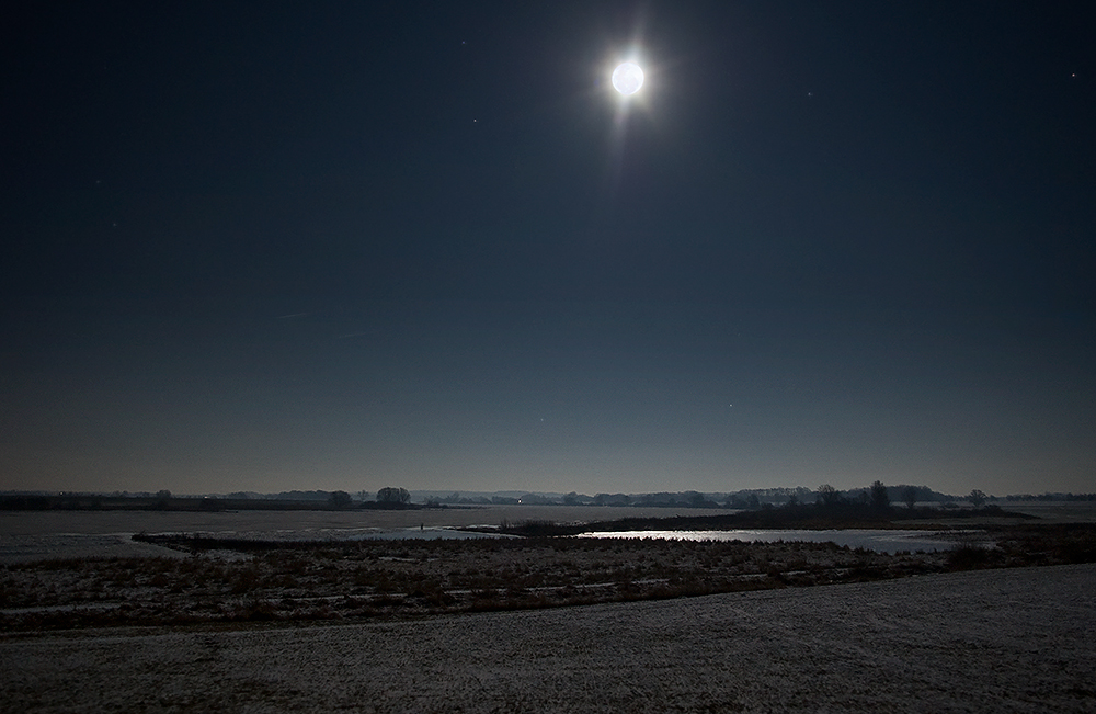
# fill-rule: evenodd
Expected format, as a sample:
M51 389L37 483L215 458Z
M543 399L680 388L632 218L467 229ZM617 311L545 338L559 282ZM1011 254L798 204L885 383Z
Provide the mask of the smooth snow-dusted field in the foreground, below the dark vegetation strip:
M1093 712L1096 566L351 625L0 636L4 712Z

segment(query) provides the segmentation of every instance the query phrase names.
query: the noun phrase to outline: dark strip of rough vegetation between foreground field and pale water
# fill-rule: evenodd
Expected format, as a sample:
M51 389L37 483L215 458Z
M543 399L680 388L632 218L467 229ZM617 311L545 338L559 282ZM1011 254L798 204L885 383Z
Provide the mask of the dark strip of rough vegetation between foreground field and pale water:
M997 528L982 535L992 548L894 555L800 542L135 537L192 555L2 566L0 628L392 619L1096 562L1094 525Z

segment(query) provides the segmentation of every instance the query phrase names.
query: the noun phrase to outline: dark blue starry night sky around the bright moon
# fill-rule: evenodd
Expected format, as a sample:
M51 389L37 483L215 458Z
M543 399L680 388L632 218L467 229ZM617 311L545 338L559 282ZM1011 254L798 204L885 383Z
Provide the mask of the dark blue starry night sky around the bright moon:
M9 8L0 489L1096 490L1094 36Z

